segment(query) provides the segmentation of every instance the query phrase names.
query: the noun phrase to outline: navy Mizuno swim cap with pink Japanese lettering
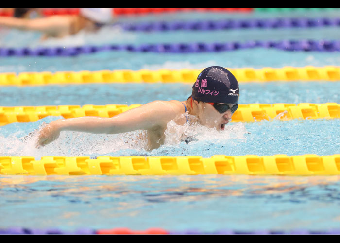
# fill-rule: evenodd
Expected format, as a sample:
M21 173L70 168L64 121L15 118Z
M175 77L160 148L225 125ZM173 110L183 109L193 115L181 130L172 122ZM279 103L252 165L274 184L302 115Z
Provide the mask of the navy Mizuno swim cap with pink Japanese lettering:
M213 66L204 69L192 86L192 98L202 102L238 103L238 81L225 68Z

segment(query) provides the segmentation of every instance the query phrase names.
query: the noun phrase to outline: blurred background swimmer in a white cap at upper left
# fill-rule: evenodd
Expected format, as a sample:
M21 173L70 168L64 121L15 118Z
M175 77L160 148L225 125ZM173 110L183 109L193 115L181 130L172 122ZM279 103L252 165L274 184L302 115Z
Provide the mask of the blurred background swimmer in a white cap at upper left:
M16 17L1 17L0 26L20 30L39 31L48 37L62 38L75 35L81 30L94 32L113 20L112 8L81 8L79 15L56 15L30 18L37 8L20 8Z

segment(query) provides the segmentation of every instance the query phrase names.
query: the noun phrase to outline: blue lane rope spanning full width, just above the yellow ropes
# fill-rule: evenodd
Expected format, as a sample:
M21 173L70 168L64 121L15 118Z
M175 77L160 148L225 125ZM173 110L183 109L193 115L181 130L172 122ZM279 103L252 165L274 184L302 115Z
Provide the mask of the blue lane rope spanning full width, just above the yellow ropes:
M226 52L249 48L274 48L284 51L339 52L340 40L252 40L246 42L213 43L156 43L156 44L112 44L103 46L84 45L79 47L0 48L0 57L9 56L76 56L104 51L158 52L158 53L201 53Z

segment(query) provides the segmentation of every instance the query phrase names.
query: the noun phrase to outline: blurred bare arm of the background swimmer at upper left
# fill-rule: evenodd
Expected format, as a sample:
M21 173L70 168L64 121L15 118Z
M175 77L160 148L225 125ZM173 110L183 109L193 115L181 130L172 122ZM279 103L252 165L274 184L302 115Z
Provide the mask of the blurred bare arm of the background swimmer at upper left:
M41 31L55 33L69 26L68 18L46 17L36 19L23 19L17 17L1 17L0 25L20 30Z

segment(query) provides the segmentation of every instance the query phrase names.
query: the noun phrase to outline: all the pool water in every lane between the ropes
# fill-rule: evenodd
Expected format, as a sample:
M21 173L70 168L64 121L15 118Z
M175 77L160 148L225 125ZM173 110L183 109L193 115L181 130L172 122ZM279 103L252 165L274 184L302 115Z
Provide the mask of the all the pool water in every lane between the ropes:
M334 12L277 13L279 16L339 17ZM273 17L273 13L170 14L164 19ZM122 21L155 21L161 16L126 17ZM2 31L2 30L1 30ZM104 32L105 31L105 32ZM105 43L174 43L245 41L249 39L339 39L340 28L132 33L117 27L97 35L81 33L39 40L37 33L8 31L6 47L71 46ZM25 37L23 37L25 36ZM80 71L102 69L281 68L340 66L339 52L287 52L248 49L219 53L98 52L75 57L1 58L1 72ZM1 106L62 104L146 104L153 100L184 101L187 84L86 84L1 87ZM240 104L340 103L340 82L240 83ZM340 153L340 120L291 120L230 123L217 132L200 125L169 124L166 143L146 151L136 143L139 132L93 135L62 132L55 142L37 149L36 130L61 117L0 127L0 156L203 156L333 155ZM29 139L21 140L29 133ZM180 141L183 132L195 140ZM144 230L328 230L340 228L340 176L0 176L0 228Z

